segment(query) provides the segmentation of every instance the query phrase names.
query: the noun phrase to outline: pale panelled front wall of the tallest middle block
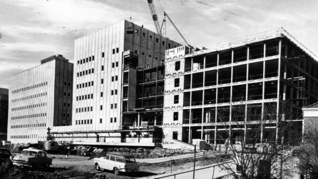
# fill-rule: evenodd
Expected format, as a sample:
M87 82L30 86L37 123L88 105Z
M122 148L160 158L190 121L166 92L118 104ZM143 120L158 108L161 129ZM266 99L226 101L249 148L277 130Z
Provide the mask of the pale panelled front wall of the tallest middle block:
M101 131L116 130L120 125L121 109L121 69L122 52L124 49L124 22L115 23L109 27L100 29L75 40L74 49L74 80L73 80L73 109L72 125L54 127L53 132L65 131ZM119 48L119 52L113 54L113 49ZM102 58L102 52L105 53ZM78 60L94 56L94 61L78 64ZM118 67L112 67L112 63L118 62ZM104 70L101 70L104 66ZM94 68L94 73L79 76L77 73ZM112 76L118 76L118 80L112 82ZM101 79L104 83L101 84ZM93 86L79 88L78 84L93 81ZM111 90L117 90L117 95L111 95ZM103 92L103 97L100 93ZM93 99L76 100L76 96L93 94ZM117 104L116 109L111 109L111 104ZM102 110L100 110L100 106ZM93 107L90 112L76 112L76 109ZM110 118L113 122L110 122ZM116 122L114 122L116 117ZM77 124L76 120L91 120L92 124ZM102 123L100 123L102 119ZM56 139L62 140L62 139ZM63 139L66 140L66 139ZM95 140L95 139L92 139Z

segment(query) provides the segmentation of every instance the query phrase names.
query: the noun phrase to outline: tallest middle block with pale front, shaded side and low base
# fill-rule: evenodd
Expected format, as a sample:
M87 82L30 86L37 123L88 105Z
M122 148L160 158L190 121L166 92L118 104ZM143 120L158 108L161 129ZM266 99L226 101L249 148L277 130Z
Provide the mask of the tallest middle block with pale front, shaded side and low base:
M53 127L51 134L55 140L78 141L79 144L99 142L100 145L113 145L124 142L153 145L153 130L141 129L134 111L147 106L146 102L143 103L146 99L138 96L139 89L146 85L141 81L142 74L152 73L155 77L157 73L153 71L163 69L165 50L179 45L128 21L76 39L72 125ZM162 116L164 72L160 74L158 86L161 85L161 96L152 96L148 102L156 102L160 98L161 102L157 101L161 105ZM148 116L148 111L143 114ZM139 115L140 118L146 117ZM138 126L138 130L123 126Z

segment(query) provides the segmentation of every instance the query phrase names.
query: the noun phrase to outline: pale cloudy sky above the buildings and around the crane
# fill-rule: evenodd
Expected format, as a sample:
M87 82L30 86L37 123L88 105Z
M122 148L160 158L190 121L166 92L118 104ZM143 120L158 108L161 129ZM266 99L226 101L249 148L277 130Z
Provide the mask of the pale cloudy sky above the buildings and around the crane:
M318 54L317 0L154 0L192 46L209 47L283 27ZM121 20L156 32L147 0L0 0L0 88L9 77L62 54L74 40ZM170 22L166 36L184 43Z

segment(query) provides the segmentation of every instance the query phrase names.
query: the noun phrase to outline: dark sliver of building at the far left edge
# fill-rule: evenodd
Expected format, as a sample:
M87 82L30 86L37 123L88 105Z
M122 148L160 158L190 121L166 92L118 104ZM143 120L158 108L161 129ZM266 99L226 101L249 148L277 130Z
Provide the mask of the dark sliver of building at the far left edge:
M8 89L0 88L0 140L7 140Z

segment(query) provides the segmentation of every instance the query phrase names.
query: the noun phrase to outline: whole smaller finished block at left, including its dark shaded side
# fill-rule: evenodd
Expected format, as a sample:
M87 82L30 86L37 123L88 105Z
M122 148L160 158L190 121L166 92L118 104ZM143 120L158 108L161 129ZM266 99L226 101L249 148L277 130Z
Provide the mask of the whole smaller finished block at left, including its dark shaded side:
M62 55L13 75L9 84L8 140L45 141L47 128L72 125L73 64Z

